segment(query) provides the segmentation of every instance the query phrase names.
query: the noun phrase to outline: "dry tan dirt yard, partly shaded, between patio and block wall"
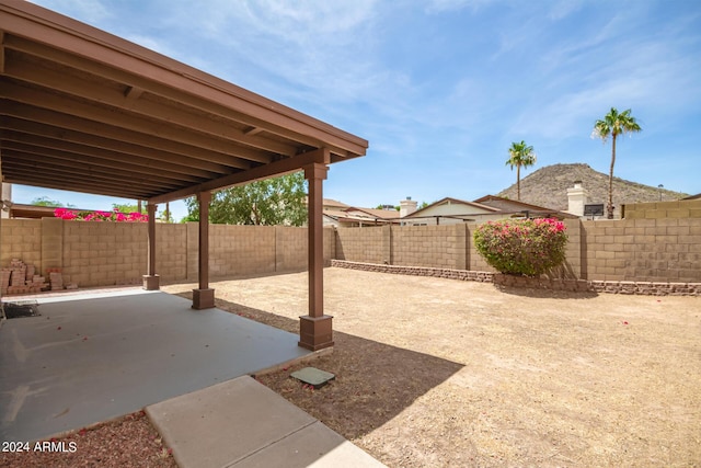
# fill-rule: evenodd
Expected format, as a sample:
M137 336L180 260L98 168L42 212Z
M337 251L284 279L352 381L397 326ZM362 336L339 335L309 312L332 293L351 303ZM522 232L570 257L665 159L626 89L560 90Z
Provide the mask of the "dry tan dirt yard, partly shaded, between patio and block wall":
M258 379L390 467L701 466L701 298L324 282L335 347L308 365L336 379ZM218 307L295 333L307 313L306 273L211 287Z

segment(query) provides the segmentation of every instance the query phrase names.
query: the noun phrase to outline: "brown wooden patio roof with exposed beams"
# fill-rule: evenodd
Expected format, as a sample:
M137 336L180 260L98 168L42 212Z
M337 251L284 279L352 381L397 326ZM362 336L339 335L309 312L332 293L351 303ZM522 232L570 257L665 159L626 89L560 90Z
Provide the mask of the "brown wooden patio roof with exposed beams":
M367 147L70 18L0 3L5 182L164 203L356 158Z

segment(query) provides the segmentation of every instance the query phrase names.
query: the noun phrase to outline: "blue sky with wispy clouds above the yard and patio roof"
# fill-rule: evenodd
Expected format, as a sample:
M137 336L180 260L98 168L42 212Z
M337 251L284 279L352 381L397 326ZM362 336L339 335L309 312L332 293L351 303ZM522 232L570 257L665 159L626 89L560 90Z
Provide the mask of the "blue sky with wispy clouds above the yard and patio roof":
M612 106L643 128L619 140L617 176L701 192L698 0L35 2L366 138L324 184L350 205L495 194L516 182L505 161L520 140L538 155L521 178L567 162L607 173L610 142L590 135Z

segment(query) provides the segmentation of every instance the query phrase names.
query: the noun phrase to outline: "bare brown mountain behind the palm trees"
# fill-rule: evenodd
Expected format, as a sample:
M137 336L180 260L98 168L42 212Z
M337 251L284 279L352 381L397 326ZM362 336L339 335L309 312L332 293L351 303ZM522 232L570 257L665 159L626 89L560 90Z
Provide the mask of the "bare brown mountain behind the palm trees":
M567 189L574 186L574 181L582 181L582 186L589 194L588 203L602 203L606 206L609 175L595 171L589 168L589 164L582 163L547 165L525 176L521 179L521 202L565 210L567 209ZM688 196L686 193L613 178L613 205L617 212L622 204L658 202L660 194L663 201ZM516 184L497 195L517 199Z

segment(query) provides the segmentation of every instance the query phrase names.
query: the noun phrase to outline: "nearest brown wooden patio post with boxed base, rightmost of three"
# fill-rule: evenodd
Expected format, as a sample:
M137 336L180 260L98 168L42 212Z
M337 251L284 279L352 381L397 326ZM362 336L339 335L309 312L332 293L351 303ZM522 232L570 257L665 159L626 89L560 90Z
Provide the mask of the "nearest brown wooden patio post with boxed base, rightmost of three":
M299 318L299 345L317 351L333 346L331 316L324 315L324 250L323 250L323 181L327 168L322 163L304 167L309 184L308 242L309 242L309 316Z

